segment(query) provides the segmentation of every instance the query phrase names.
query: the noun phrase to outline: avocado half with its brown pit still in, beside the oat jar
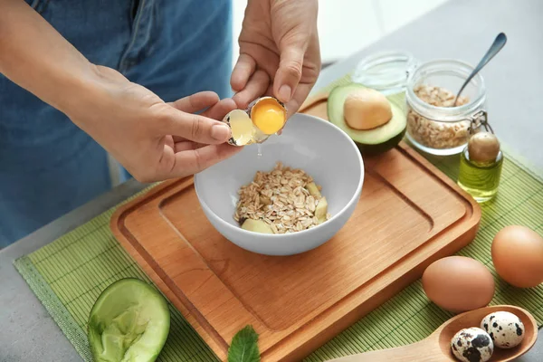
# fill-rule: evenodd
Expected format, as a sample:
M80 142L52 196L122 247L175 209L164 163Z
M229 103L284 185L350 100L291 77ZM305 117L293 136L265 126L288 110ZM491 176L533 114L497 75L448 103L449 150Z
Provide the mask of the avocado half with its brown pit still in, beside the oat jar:
M327 106L328 118L330 122L343 129L355 141L362 154L376 155L395 148L400 143L405 136L407 118L403 108L394 100L381 95L382 99L386 100L383 102L378 99L378 96L375 97L371 93L367 97L363 94L365 91L368 93L369 91L377 92L377 90L368 89L357 83L340 85L331 90ZM363 95L358 97L358 94ZM355 121L351 121L349 124L346 119L346 102L351 107L348 109L348 115L351 118L358 118L356 119L358 129L352 127L355 125ZM377 113L381 119L376 120ZM371 126L376 127L370 128Z

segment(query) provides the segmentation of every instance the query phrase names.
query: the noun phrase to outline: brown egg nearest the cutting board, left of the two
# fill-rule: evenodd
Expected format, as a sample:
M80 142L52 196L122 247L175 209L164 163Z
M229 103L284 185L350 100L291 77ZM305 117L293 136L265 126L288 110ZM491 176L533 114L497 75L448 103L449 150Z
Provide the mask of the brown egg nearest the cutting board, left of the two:
M443 310L458 313L486 307L494 296L494 278L481 262L454 255L426 268L423 289Z

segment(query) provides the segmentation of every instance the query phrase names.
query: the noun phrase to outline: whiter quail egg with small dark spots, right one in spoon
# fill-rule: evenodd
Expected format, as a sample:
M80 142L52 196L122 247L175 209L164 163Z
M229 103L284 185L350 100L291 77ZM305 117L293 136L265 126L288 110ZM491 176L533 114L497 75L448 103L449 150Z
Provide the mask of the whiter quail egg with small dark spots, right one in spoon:
M481 320L484 329L498 348L514 348L519 346L524 338L524 324L509 311L497 311Z

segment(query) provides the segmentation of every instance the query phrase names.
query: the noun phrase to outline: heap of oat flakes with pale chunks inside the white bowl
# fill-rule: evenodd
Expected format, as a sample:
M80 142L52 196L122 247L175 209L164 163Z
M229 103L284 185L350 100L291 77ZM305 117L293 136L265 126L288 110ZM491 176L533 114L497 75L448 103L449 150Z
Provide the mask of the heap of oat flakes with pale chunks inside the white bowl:
M269 172L257 171L243 185L233 215L245 230L257 233L294 233L329 220L328 201L321 187L300 168L278 162Z

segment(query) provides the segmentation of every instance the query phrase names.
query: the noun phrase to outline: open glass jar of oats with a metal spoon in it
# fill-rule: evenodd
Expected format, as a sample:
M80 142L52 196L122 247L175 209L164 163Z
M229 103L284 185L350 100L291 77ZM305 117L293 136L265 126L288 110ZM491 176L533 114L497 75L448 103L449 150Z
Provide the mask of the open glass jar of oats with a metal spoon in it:
M462 151L470 135L486 125L486 88L481 73L456 93L472 72L465 62L444 59L424 62L407 80L405 137L414 147L433 155Z

